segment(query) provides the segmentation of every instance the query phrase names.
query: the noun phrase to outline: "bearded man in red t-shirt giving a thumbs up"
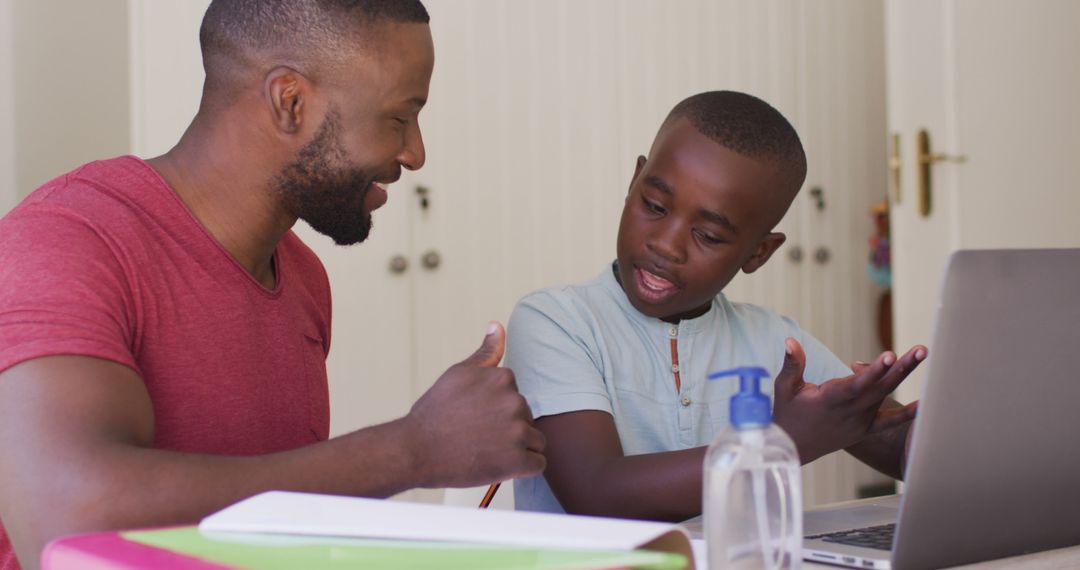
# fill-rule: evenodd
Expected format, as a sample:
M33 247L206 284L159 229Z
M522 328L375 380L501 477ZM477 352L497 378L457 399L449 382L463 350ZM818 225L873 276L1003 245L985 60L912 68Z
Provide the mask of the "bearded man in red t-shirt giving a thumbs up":
M87 164L0 220L0 569L267 489L543 469L495 323L407 416L327 440L328 283L291 228L363 241L386 185L423 165L427 22L416 0L214 0L176 147Z

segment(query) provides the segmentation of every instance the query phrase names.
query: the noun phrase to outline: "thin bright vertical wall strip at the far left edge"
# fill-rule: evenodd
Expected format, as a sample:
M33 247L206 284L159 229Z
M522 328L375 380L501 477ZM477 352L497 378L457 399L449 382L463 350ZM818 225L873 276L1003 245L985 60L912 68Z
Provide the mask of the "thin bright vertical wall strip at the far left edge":
M15 40L13 0L0 0L0 215L18 200L15 191Z

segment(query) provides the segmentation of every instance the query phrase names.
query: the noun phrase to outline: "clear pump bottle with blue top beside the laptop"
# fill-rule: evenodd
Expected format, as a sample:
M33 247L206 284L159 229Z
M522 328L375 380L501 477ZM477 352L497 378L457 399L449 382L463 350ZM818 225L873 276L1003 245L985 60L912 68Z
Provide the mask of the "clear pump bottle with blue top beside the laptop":
M800 569L802 481L795 443L772 423L764 368L708 376L739 376L731 396L731 425L705 453L704 518L708 568Z

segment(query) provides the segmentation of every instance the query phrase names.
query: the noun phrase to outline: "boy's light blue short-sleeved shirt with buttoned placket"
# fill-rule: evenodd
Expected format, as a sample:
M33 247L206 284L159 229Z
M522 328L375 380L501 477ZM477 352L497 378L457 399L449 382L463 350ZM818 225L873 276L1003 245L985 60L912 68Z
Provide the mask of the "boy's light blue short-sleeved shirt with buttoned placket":
M802 343L807 381L851 374L791 318L731 302L724 294L705 314L678 324L646 316L626 299L608 266L590 282L522 299L508 325L504 366L514 371L534 417L606 411L625 454L654 453L708 445L728 424L738 379L708 381L705 376L760 366L775 378L787 337ZM772 383L762 382L762 391L771 395ZM542 475L515 480L514 503L519 510L564 512Z

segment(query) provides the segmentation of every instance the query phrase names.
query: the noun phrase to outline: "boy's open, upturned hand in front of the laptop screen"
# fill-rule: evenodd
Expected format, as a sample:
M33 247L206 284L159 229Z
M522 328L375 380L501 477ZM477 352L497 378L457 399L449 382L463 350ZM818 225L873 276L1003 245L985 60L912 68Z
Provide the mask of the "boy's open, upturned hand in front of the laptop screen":
M802 379L806 354L795 339L786 341L784 367L773 388L773 420L799 450L802 463L850 447L915 418L918 403L882 409L886 397L927 357L916 345L897 358L883 352L873 363L855 363L854 374L821 385Z

